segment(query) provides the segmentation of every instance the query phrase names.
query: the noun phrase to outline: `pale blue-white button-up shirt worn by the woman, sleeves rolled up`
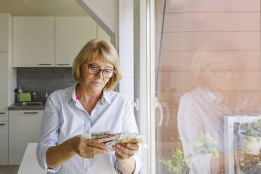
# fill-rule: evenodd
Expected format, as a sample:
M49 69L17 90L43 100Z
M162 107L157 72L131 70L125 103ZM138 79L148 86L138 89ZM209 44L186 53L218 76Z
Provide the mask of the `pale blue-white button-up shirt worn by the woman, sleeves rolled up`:
M75 135L109 131L110 133L138 133L133 114L133 106L128 98L114 91L103 91L91 116L83 109L76 98L76 84L70 88L53 92L47 102L41 123L41 139L36 156L42 168L48 173L116 173L114 152L95 159L83 159L76 154L59 168L49 169L46 164L46 151L51 146L60 145ZM135 172L141 168L140 149L136 152Z

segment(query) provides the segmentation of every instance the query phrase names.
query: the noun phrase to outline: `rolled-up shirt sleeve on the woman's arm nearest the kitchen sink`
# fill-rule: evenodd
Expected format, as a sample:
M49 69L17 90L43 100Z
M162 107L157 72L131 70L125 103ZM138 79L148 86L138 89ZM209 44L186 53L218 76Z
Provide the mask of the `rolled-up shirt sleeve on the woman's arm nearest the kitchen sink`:
M60 130L59 114L53 101L53 96L50 95L46 101L46 108L41 121L40 140L36 148L36 157L39 165L50 173L56 173L60 169L60 167L48 168L46 163L46 152L49 147L58 145Z

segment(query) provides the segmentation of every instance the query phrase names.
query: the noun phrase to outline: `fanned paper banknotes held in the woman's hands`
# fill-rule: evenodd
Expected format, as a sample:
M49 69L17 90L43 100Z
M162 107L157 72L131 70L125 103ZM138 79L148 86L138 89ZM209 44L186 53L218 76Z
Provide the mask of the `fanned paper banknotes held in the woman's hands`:
M109 149L114 151L112 147L116 144L126 145L128 142L134 142L147 147L145 144L145 136L138 133L109 133L109 131L102 133L91 133L91 137L98 142L104 142Z

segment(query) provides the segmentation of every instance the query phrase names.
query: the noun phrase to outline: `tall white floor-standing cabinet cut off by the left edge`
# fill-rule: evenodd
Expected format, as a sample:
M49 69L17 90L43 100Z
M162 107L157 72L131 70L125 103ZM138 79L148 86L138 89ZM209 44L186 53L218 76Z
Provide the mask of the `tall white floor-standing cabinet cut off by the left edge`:
M8 105L15 102L16 72L12 67L12 17L0 13L0 165L8 164Z

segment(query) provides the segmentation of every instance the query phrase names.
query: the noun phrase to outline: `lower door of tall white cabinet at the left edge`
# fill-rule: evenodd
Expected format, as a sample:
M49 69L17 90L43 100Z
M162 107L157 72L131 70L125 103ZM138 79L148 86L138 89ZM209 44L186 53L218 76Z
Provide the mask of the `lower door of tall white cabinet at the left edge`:
M0 165L8 164L8 122L0 121Z

